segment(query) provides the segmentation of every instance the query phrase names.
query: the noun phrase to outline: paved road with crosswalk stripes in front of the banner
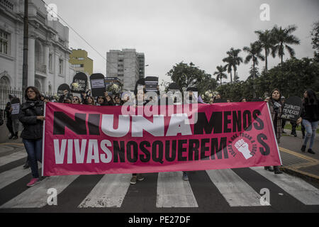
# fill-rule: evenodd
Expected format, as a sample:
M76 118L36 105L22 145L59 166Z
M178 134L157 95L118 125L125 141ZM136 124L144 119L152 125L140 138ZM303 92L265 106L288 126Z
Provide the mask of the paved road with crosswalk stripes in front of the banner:
M18 149L17 149L18 150ZM263 167L145 174L130 185L130 175L47 177L27 188L23 149L0 162L0 212L318 212L318 185ZM49 206L47 190L57 189L57 206ZM262 206L262 189L269 204Z

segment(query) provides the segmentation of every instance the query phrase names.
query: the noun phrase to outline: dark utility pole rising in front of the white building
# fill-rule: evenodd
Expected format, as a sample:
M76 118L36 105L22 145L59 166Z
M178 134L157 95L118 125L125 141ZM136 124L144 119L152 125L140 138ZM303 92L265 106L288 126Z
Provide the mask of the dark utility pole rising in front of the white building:
M28 0L24 0L22 91L28 86Z

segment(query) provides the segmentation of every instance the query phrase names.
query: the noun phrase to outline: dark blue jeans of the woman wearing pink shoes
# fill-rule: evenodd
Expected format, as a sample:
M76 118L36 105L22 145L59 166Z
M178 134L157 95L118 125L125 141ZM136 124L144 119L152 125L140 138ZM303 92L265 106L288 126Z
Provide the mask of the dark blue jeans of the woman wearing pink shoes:
M26 152L28 153L28 162L31 168L33 178L39 178L38 161L42 162L42 139L22 140Z

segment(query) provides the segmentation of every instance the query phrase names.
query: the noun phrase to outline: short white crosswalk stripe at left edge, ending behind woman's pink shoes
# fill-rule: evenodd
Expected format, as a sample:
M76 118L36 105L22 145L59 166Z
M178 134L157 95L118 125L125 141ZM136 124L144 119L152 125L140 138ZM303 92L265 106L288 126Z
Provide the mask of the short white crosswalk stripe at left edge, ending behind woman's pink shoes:
M7 185L17 181L18 179L21 179L22 177L28 175L29 173L30 173L30 170L23 169L23 165L16 167L12 170L2 172L0 174L0 189L3 189Z

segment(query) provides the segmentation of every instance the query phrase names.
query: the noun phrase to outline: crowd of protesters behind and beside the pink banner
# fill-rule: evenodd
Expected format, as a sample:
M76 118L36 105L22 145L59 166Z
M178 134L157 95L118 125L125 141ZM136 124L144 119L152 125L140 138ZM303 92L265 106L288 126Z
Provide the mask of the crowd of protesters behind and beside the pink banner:
M197 92L196 89L187 89L187 92L190 92L190 100L192 99L194 92ZM134 95L136 97L136 103L142 103L142 105L147 104L150 99L145 100L145 84L136 84ZM159 94L159 91L157 91ZM25 145L26 152L28 153L28 160L26 162L25 168L30 167L33 178L27 184L28 187L40 182L40 177L38 174L38 162L42 161L42 136L43 136L43 121L45 121L44 112L44 103L48 101L60 102L65 104L83 104L83 105L93 105L93 106L121 106L126 101L130 101L133 98L130 92L124 92L123 94L110 94L108 92L104 93L104 96L93 97L90 95L90 92L83 93L81 95L71 95L68 91L65 91L60 97L57 96L45 96L40 94L36 87L28 87L24 92L24 99L26 100L21 105L20 114L18 116L18 121L23 124L23 131L21 133L21 138L23 138L23 144ZM167 98L167 96L158 96L159 99ZM9 96L9 99L12 100L13 96ZM197 97L198 103L204 104L205 102L201 99L201 96ZM286 121L281 118L282 107L284 104L284 96L281 96L279 89L274 89L269 97L262 101L267 101L269 104L269 110L271 112L272 121L274 124L274 131L276 134L277 142L280 143L281 134L284 132L284 126ZM223 101L221 101L223 100ZM259 98L259 101L261 99ZM152 100L154 101L154 100ZM174 100L176 102L176 99ZM247 102L245 97L238 99L240 102ZM232 102L230 99L222 99L220 94L216 95L210 99L206 104L214 104L218 102ZM139 104L140 105L140 104ZM6 126L11 133L9 139L18 138L17 122L13 122L11 118L11 104L10 102L6 105L5 114L6 114ZM303 110L301 113L301 118L297 122L291 122L292 131L291 135L296 135L296 127L301 123L303 128L303 145L301 148L302 152L306 152L306 146L308 141L310 141L308 147L308 153L315 154L313 151L313 143L316 133L316 128L319 122L319 105L318 99L311 89L308 89L303 94ZM265 170L274 172L275 174L280 174L278 166L275 167L264 167ZM143 180L142 175L136 173L132 175L130 180L131 184L135 184L137 181ZM183 179L188 180L186 172L183 172Z

